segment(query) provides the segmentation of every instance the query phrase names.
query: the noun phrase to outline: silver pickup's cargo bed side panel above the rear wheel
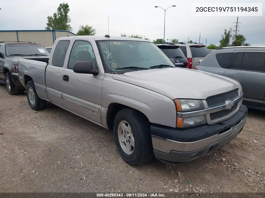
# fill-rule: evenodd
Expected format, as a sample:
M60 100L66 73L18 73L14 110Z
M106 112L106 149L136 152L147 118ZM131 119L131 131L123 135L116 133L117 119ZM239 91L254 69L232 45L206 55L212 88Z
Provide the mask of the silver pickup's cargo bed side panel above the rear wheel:
M46 60L42 60L45 61ZM45 84L45 70L48 63L32 60L32 59L25 59L20 58L18 61L18 68L19 68L19 80L21 84L26 88L25 81L28 79L33 79L34 85L37 91L37 94L39 95L39 90L42 90L46 88ZM44 92L46 93L46 92ZM42 96L43 93L40 93L40 98L47 98L45 96Z

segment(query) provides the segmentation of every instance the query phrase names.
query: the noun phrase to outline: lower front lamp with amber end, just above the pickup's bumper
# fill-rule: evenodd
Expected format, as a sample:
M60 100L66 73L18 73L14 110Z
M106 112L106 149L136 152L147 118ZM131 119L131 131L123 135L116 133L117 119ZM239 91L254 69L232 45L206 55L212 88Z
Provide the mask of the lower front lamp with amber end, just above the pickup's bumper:
M185 128L206 124L205 115L194 116L189 118L177 118L177 127Z

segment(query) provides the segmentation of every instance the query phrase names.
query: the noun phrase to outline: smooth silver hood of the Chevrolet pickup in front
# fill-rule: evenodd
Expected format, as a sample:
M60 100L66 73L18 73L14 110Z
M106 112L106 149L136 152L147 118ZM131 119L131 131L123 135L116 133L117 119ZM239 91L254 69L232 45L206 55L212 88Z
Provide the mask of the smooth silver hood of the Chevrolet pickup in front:
M152 90L171 99L206 99L240 87L239 82L227 77L177 67L113 74L113 79Z

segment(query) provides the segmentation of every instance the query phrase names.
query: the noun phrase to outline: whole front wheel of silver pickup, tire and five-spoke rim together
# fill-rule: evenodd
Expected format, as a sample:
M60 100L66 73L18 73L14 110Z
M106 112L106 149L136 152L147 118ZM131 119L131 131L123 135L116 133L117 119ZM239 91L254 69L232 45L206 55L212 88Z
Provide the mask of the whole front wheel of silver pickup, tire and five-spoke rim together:
M130 165L148 163L153 157L150 122L136 110L122 109L116 114L114 140L120 156Z

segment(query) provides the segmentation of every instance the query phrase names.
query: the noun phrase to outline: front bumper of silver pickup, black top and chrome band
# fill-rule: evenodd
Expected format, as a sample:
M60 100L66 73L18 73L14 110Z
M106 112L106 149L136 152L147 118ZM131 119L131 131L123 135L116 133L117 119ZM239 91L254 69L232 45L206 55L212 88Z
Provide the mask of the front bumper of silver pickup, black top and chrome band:
M230 119L191 129L151 126L154 154L164 162L186 162L208 155L228 144L246 124L247 108L242 105Z

